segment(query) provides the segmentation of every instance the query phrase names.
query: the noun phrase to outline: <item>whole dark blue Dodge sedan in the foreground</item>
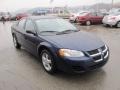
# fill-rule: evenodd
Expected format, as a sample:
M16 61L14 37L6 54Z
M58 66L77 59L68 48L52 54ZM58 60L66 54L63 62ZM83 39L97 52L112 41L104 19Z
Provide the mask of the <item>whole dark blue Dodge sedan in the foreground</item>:
M23 46L37 56L48 73L96 70L109 58L104 42L58 17L27 17L11 29L14 46L17 49Z

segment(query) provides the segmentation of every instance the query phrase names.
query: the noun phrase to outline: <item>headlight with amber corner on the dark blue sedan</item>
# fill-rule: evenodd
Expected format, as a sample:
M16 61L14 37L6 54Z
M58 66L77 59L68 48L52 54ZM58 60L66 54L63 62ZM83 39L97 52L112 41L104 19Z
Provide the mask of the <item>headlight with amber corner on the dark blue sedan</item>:
M70 50L70 49L60 49L59 55L61 57L82 57L84 53L81 51Z

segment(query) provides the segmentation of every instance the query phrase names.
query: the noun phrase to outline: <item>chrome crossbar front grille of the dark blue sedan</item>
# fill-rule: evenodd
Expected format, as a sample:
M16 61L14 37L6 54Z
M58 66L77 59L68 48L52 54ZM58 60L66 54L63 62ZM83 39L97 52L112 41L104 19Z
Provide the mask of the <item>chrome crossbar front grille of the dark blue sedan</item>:
M99 49L95 49L92 51L87 51L88 55L93 58L95 62L100 62L103 59L106 59L108 57L108 48L107 46L102 46Z

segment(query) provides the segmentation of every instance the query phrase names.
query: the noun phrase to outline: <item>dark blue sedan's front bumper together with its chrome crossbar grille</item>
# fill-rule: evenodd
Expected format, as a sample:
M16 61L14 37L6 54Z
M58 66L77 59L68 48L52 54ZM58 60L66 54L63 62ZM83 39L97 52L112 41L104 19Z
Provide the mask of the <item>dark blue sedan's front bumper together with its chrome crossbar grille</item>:
M85 56L79 58L58 57L58 68L65 72L82 73L101 68L109 59L109 49L106 45L92 51L86 51L84 53Z

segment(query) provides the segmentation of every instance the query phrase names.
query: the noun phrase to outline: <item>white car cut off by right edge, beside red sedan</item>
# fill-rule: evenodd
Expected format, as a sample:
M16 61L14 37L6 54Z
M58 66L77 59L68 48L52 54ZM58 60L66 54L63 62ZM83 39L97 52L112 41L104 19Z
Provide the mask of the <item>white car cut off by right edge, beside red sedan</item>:
M107 15L103 18L102 22L105 26L109 25L120 28L120 13Z

